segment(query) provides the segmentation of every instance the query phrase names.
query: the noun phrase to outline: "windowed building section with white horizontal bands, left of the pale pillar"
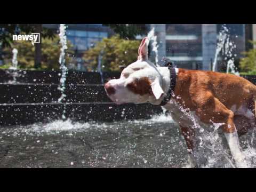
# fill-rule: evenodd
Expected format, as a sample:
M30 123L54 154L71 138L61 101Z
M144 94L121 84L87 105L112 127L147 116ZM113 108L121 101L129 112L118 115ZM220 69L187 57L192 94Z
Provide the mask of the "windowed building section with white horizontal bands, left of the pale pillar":
M202 66L202 25L166 24L166 57L183 68Z

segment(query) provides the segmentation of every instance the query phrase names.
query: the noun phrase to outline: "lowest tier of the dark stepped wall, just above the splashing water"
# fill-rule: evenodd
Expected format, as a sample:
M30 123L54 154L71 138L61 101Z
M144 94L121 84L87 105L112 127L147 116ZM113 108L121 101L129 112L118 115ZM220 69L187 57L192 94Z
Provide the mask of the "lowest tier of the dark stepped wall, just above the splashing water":
M47 123L61 119L66 108L66 117L74 121L121 121L124 119L150 118L162 113L162 108L150 104L117 106L114 103L17 103L0 106L0 125L26 125L36 122Z

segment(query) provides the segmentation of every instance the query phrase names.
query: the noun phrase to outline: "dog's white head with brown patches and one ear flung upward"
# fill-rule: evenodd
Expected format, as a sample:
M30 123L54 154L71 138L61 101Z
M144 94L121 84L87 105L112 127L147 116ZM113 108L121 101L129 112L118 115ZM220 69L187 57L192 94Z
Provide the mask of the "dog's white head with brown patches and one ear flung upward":
M144 38L139 46L138 60L127 66L119 79L111 79L105 84L107 95L113 102L154 103L164 94L161 74L148 60L148 43L148 38Z

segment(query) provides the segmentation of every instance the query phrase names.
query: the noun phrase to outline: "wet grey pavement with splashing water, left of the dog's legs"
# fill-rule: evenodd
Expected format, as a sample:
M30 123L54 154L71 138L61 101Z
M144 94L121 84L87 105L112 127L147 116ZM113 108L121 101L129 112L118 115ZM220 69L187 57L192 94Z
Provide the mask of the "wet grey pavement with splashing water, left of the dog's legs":
M1 127L0 167L181 167L186 145L171 118Z

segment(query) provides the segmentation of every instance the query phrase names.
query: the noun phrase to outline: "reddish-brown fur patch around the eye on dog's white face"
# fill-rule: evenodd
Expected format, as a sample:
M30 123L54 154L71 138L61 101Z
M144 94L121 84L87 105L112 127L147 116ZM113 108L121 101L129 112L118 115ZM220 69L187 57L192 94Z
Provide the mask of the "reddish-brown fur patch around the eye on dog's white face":
M127 84L127 89L135 94L145 95L151 94L151 82L148 77L142 77L134 80L132 83Z

